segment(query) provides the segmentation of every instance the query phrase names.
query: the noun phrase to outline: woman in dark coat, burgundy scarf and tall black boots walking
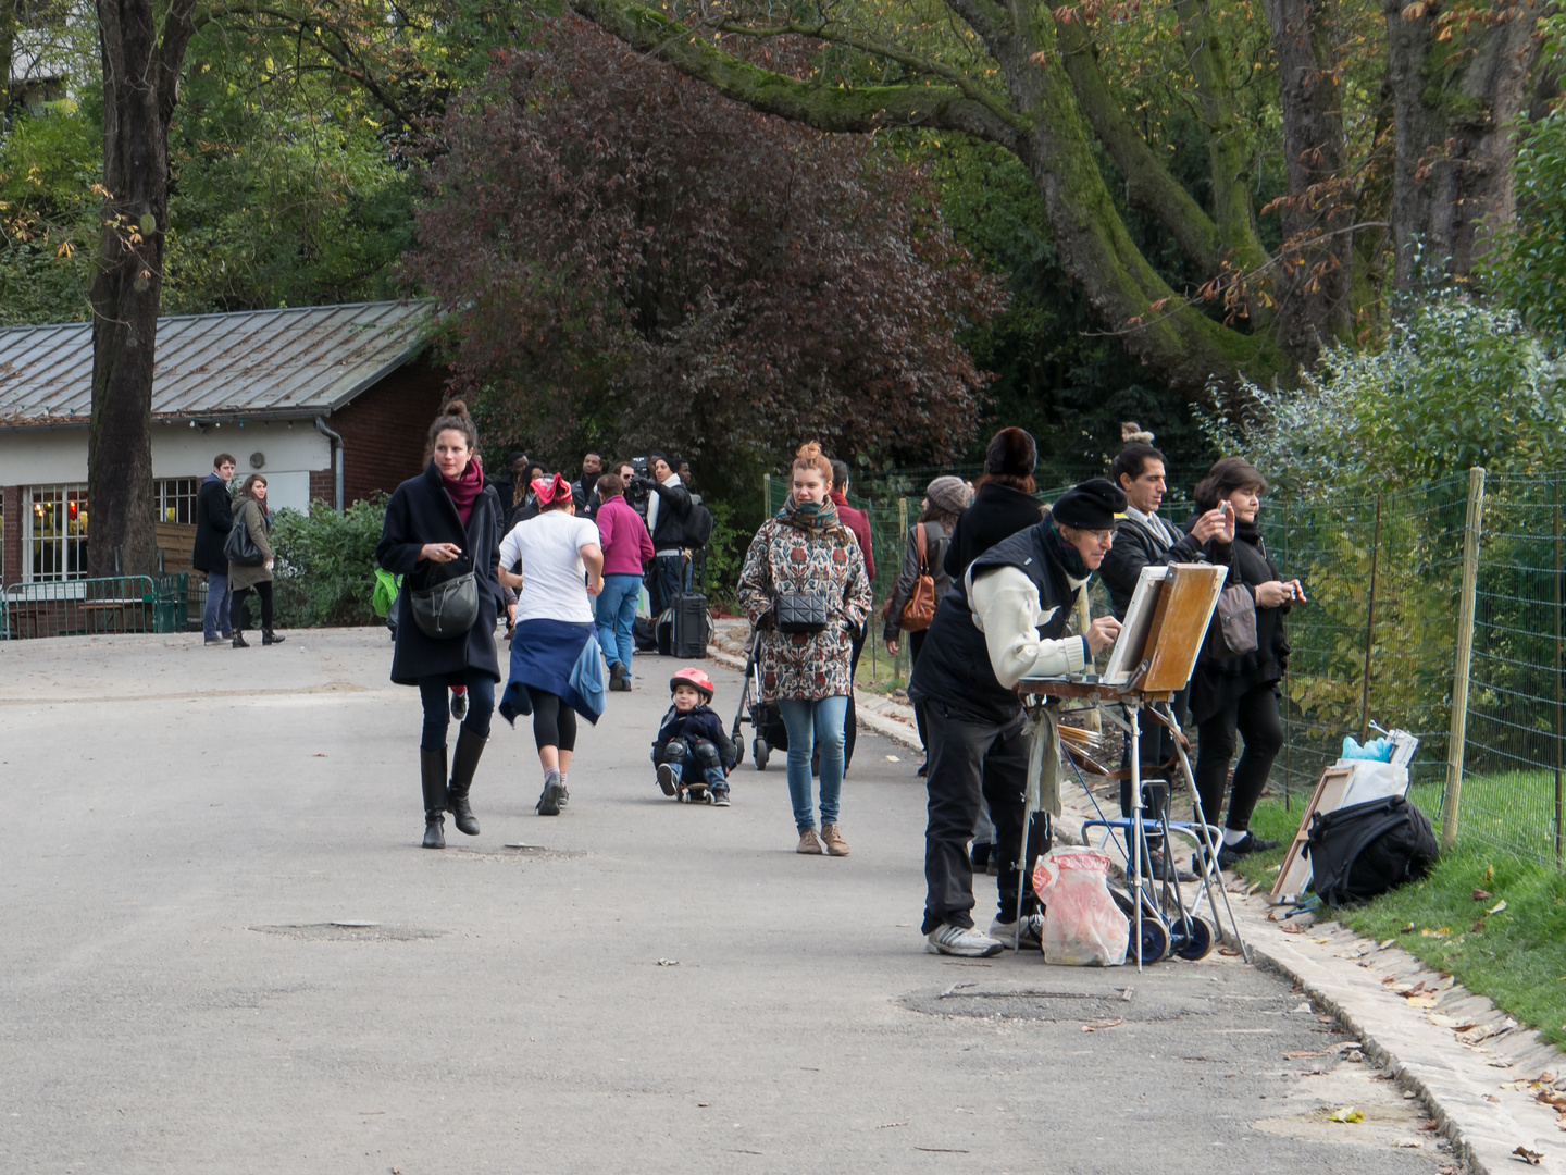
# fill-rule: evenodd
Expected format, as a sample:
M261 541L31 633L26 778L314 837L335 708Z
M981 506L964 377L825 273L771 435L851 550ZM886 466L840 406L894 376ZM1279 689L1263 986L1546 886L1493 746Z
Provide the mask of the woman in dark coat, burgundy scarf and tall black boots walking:
M453 400L429 426L429 467L409 478L387 503L387 520L376 561L393 575L407 577L398 595L396 650L392 680L417 685L424 703L418 766L424 786L424 848L446 848L445 813L470 837L479 822L468 807L468 790L489 739L495 711L500 660L495 655L495 617L504 606L500 578L500 498L484 484L474 453L478 429L460 400ZM413 620L413 594L473 572L478 616L467 633L428 636ZM467 686L468 713L457 733L457 750L446 779L446 691Z

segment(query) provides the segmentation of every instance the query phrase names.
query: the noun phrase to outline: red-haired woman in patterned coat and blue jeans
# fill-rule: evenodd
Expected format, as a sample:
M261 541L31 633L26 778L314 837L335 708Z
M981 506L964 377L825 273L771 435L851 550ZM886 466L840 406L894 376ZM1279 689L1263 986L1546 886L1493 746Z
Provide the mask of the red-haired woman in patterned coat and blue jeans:
M843 791L843 724L853 689L853 633L871 608L871 581L853 533L828 500L832 462L810 442L794 457L792 486L777 517L750 540L739 573L739 606L756 628L761 700L777 702L788 728L788 790L799 852L847 857L838 824ZM778 594L821 595L824 631L778 631ZM821 838L811 812L810 760L821 747Z

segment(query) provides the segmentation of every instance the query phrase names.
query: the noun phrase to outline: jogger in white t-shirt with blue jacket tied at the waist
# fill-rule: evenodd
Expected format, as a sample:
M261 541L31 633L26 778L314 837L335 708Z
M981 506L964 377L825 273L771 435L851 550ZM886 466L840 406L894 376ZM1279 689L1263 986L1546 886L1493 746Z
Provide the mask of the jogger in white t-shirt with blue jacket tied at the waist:
M603 713L603 655L587 598L603 591L603 548L598 528L575 517L565 478L537 478L532 492L539 515L518 522L500 544L500 580L518 598L511 680L498 710L514 725L517 714L532 714L543 768L537 808L557 816L568 799L576 714L597 722Z

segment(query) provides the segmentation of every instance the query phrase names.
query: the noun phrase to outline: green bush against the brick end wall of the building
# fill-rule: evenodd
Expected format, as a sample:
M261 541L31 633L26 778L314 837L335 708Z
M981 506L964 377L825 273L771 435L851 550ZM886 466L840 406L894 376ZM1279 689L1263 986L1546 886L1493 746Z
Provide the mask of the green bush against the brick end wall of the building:
M379 624L370 606L376 586L376 544L385 522L385 495L355 501L338 514L312 501L310 514L272 515L272 569L277 624L327 628Z

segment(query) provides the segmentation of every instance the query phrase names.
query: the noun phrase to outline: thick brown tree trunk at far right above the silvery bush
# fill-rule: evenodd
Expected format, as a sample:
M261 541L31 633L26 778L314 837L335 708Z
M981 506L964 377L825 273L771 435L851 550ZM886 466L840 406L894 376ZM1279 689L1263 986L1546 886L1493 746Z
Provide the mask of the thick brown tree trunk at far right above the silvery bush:
M1386 0L1395 119L1394 282L1472 273L1516 213L1513 122L1532 97L1541 0Z

